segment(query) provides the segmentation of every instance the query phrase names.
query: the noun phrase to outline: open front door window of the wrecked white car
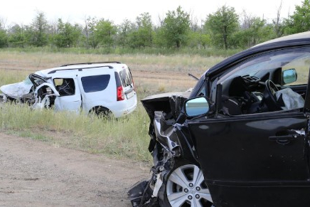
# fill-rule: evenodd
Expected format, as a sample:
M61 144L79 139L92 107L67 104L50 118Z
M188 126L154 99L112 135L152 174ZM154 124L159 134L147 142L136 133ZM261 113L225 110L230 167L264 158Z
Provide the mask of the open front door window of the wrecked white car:
M60 96L75 95L75 83L73 78L54 78L53 82Z

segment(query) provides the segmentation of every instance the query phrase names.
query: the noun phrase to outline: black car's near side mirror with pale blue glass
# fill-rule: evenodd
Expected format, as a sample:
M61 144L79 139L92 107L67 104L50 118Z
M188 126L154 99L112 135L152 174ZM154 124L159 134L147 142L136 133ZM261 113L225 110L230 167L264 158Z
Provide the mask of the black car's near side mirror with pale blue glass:
M209 103L205 97L194 97L185 102L185 113L188 117L196 117L209 112Z

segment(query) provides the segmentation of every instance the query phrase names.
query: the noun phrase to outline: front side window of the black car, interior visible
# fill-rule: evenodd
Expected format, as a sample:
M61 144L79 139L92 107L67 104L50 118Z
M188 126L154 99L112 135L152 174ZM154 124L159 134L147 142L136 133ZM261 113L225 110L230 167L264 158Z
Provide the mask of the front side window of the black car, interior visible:
M304 107L309 68L309 47L255 55L228 70L216 83L215 89L220 88L219 94L216 90L219 112L249 115L300 110Z

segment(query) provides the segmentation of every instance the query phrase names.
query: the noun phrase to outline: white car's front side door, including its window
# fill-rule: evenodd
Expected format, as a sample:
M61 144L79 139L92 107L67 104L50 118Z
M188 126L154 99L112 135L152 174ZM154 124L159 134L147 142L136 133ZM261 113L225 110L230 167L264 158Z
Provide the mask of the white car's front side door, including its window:
M60 80L60 85L57 81ZM68 75L60 78L53 78L60 96L55 98L55 110L69 110L78 112L81 107L80 87L77 83L77 76Z

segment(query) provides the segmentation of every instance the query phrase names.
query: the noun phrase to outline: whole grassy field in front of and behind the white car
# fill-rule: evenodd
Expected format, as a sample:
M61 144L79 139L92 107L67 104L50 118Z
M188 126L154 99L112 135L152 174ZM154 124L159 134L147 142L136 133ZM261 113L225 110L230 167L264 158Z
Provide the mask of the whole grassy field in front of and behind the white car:
M196 84L188 76L200 77L221 57L193 55L90 55L66 53L23 53L0 51L0 85L16 83L36 70L67 63L119 61L129 65L138 99L161 92L187 90ZM139 102L127 117L102 120L53 110L31 110L27 105L0 105L1 130L86 152L149 161L149 117Z

